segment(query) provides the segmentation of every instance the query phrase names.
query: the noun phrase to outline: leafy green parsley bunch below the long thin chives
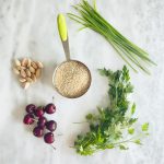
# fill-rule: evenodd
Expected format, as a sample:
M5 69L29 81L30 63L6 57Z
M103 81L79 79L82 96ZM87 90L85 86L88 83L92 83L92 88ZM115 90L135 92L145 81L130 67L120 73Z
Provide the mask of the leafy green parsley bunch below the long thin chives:
M129 70L113 72L99 70L109 82L107 107L97 107L98 114L86 115L90 131L79 134L74 148L81 155L92 155L99 150L119 148L127 150L128 143L142 144L141 138L147 137L149 124L141 126L140 130L134 129L138 118L133 117L136 104L130 105L128 95L132 93L133 86L130 83Z

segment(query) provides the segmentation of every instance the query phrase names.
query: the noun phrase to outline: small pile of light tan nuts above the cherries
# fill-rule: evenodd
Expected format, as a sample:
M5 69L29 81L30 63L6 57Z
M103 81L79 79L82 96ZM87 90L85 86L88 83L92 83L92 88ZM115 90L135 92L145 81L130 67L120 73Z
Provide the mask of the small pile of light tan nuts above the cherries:
M40 78L44 68L40 61L33 61L30 58L15 59L13 71L19 75L19 81L25 90Z

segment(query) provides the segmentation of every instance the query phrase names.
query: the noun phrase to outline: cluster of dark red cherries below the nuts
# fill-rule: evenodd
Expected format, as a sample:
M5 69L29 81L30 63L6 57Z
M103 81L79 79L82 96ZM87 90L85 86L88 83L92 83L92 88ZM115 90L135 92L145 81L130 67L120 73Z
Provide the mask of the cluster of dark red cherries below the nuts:
M45 107L36 107L34 104L30 104L26 106L25 110L27 114L24 116L23 122L25 125L33 125L36 121L36 127L33 129L33 134L37 138L44 136L44 141L46 143L54 143L55 136L52 132L57 128L57 122L55 120L48 121L44 114L54 114L56 112L56 106L52 103L46 105Z

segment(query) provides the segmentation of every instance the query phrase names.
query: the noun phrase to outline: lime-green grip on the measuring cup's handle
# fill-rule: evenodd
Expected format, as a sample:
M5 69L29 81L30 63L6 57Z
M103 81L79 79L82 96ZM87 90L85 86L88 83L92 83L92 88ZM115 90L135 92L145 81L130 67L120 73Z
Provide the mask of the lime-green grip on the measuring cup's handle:
M68 30L66 24L66 19L63 14L58 14L58 31L62 42L66 42L68 38Z

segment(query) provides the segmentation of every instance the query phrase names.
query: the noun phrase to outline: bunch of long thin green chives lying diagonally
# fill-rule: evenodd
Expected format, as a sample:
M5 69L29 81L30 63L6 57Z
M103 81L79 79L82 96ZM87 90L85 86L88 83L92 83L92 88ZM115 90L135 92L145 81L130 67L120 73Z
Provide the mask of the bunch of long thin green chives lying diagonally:
M113 27L96 10L95 3L92 7L86 0L82 0L79 4L73 5L79 15L68 13L69 17L83 25L82 28L89 27L105 37L105 39L115 48L119 56L136 72L138 69L150 74L149 65L155 65L149 54L136 46L133 43L122 36L115 27Z

